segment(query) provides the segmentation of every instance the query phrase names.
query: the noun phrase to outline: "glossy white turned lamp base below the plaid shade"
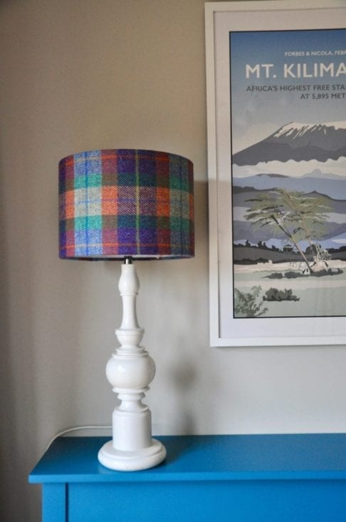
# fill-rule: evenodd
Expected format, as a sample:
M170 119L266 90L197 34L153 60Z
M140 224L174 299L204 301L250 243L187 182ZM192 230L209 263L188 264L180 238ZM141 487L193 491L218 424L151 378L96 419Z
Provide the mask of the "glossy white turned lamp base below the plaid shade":
M120 404L113 411L112 441L98 453L103 466L119 471L138 471L160 464L166 450L152 439L150 409L142 399L154 379L155 364L147 350L140 346L144 329L136 317L136 297L140 288L135 265L122 265L119 281L122 296L122 324L115 330L121 346L106 366L106 375Z

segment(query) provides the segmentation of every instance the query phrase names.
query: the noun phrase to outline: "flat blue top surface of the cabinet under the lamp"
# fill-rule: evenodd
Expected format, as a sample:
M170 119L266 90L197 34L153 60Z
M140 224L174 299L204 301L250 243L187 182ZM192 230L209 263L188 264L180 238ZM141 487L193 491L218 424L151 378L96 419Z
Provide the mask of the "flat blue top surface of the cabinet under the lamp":
M167 459L152 469L126 472L98 462L98 450L109 437L59 437L29 482L346 479L346 434L158 438Z

